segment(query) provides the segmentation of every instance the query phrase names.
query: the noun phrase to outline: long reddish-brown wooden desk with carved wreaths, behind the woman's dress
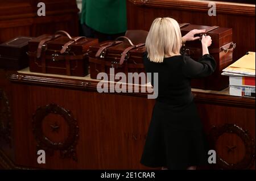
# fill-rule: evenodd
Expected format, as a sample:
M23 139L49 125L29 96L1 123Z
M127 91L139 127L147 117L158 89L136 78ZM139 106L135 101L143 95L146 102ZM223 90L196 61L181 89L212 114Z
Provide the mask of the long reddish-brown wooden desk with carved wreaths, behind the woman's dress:
M155 103L147 93L100 94L88 77L0 74L0 166L148 169L139 163ZM218 154L213 169L254 169L255 99L226 90L193 94ZM39 149L46 164L37 162Z

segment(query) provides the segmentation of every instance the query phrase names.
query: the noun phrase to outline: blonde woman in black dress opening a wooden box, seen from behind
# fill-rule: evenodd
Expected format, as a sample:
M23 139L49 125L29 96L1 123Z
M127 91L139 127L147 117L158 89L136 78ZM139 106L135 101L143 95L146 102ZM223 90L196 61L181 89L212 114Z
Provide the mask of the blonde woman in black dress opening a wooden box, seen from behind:
M199 41L194 35L203 32L192 30L181 37L179 24L172 18L157 18L151 25L143 60L147 73L158 73L158 98L141 158L145 166L193 170L207 164L203 126L190 83L191 78L207 77L215 70L216 62L208 51L212 39L203 36L198 61L180 54L182 41Z

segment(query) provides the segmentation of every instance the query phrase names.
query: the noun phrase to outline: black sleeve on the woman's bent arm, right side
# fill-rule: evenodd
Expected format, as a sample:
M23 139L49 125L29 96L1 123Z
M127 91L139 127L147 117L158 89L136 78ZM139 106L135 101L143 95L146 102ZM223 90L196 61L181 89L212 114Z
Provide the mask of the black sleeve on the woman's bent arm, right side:
M216 61L210 54L204 54L198 61L183 55L183 74L188 78L207 77L216 69Z

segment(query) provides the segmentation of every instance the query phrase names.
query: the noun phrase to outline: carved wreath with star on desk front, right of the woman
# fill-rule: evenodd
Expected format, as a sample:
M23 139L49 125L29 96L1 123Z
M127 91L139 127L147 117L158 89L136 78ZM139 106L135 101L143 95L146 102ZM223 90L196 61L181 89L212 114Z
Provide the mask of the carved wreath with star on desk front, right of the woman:
M250 169L255 162L255 140L236 124L213 127L210 138L217 153L220 169Z

